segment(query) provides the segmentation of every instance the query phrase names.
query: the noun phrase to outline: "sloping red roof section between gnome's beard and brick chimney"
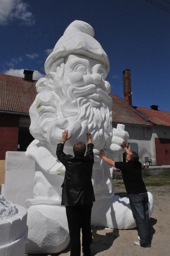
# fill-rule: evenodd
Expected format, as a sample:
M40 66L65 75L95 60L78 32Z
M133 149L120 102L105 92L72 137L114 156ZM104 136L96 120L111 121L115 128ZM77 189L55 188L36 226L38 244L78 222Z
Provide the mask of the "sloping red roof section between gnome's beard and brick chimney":
M112 103L112 118L113 122L124 124L136 124L152 126L147 118L142 117L140 113L137 113L132 106L126 101L123 101L118 95L110 94L113 100Z

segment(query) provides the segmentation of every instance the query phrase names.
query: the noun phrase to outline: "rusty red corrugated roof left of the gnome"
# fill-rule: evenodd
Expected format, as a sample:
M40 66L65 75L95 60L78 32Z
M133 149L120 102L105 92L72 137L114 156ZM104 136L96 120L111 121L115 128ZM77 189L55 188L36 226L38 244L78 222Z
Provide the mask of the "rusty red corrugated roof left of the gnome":
M36 82L0 74L0 110L29 113L37 94Z

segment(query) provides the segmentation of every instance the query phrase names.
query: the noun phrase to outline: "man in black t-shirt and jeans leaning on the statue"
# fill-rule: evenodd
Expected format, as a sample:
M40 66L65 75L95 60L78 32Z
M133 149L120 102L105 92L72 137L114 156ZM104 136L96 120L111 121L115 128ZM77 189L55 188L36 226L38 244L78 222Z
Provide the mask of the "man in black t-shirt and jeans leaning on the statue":
M123 142L123 147L126 151L127 162L115 162L107 158L103 149L100 150L100 155L106 163L120 169L122 171L122 178L125 184L126 192L129 196L129 202L132 209L132 214L136 220L138 231L135 245L142 247L151 247L150 241L150 227L149 227L149 209L148 209L148 193L145 183L142 179L141 163L139 156L135 152L131 152L126 147L126 141Z

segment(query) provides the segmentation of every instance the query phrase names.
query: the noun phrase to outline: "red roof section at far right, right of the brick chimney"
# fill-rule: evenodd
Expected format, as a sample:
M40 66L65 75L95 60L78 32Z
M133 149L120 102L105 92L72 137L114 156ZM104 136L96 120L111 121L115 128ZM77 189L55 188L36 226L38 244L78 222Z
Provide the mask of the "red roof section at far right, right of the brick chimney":
M135 109L156 125L170 126L170 112L142 107L135 107Z

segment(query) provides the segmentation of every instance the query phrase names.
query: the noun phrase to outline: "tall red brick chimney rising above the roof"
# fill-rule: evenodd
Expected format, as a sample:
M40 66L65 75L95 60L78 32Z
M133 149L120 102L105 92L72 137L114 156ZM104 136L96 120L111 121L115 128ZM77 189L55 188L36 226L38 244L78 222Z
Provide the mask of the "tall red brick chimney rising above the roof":
M124 100L132 106L131 75L130 69L123 71L123 93Z

